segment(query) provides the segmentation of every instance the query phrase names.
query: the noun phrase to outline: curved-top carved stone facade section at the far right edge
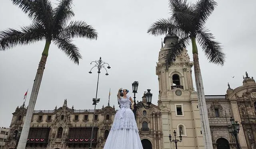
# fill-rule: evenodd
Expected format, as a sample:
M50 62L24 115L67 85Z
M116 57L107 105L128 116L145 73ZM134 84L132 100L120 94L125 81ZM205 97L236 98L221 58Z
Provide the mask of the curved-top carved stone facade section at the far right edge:
M256 149L256 83L253 77L246 77L243 85L235 89L227 90L228 100L234 103L234 119L242 124L239 132L239 140L242 145L249 149Z

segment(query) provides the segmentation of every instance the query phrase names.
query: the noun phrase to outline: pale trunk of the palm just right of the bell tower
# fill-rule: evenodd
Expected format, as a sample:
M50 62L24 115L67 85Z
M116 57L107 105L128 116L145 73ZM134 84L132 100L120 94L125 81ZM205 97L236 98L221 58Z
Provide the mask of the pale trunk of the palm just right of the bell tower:
M191 37L191 41L192 41L192 53L193 53L194 71L195 71L195 80L196 80L196 90L198 94L198 106L199 106L199 114L201 118L204 147L205 149L213 149L212 135L210 131L208 112L207 112L206 101L204 96L203 79L202 79L202 74L201 74L199 60L198 60L198 51L197 51L195 37Z

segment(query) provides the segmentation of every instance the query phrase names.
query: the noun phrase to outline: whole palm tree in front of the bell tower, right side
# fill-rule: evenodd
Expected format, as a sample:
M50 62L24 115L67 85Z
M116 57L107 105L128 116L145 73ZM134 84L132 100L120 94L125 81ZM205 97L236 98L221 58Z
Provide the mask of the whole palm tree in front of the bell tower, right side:
M210 63L224 65L225 54L220 43L215 41L212 33L205 27L206 20L216 6L217 3L214 0L198 0L195 4L188 4L186 0L170 0L169 7L172 16L168 19L156 21L148 29L148 33L152 35L174 33L179 37L176 43L167 46L167 52L164 56L166 69L172 65L175 58L182 53L183 48L188 46L191 40L202 133L206 149L212 149L212 139L196 40L201 45Z

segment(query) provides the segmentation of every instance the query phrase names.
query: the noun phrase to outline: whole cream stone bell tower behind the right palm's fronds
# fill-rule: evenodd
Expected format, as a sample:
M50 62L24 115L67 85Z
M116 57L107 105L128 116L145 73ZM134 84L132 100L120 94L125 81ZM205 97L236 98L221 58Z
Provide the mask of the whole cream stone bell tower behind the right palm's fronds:
M182 149L204 148L200 115L198 108L197 93L193 87L192 66L186 48L172 65L166 69L164 55L168 44L174 44L178 37L174 34L167 34L164 37L164 44L159 52L156 63L156 75L159 81L158 106L162 114L162 128L164 149L174 148L174 143L170 143L168 135L173 136L173 131L177 136L182 135L182 142L177 146ZM179 147L179 148L180 148Z

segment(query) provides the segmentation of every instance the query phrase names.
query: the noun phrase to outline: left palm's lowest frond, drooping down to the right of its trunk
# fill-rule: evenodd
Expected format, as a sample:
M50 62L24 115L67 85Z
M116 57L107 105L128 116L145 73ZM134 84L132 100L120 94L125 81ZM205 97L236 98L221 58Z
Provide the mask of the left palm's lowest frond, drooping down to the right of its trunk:
M82 59L82 56L79 53L78 47L72 43L70 38L54 38L54 43L61 49L71 61L76 64L79 64L79 59Z

